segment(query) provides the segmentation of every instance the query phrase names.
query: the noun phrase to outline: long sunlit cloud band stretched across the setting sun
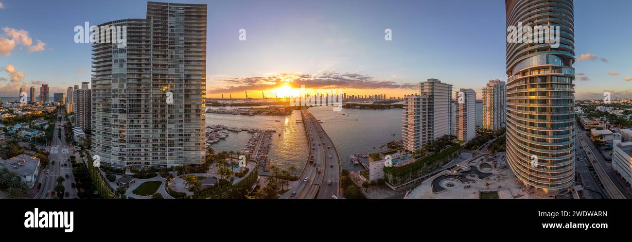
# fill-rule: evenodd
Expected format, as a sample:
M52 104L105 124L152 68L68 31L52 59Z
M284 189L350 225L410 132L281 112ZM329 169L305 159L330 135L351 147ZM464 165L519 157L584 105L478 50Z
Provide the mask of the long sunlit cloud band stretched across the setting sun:
M398 84L390 80L377 80L372 76L358 73L336 73L325 72L318 75L308 75L300 73L282 73L272 76L252 76L242 78L225 78L219 80L226 85L222 88L209 90L209 94L221 94L231 92L243 92L247 90L269 90L278 88L284 83L290 87L300 88L305 85L308 89L329 89L329 88L352 88L352 89L374 89L374 88L403 88L415 89L416 83Z

